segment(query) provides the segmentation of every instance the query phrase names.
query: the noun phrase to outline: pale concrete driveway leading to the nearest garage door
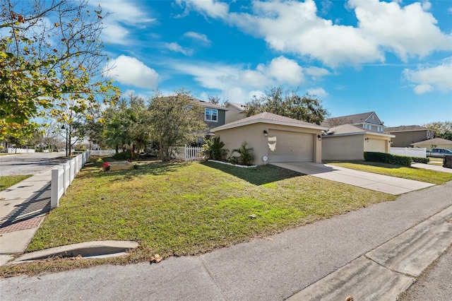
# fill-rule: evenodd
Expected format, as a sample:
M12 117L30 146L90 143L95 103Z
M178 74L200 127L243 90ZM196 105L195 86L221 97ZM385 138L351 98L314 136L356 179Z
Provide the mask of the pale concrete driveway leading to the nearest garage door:
M330 181L349 184L352 186L381 191L386 194L405 194L434 186L434 184L413 181L411 179L400 179L386 175L377 175L371 172L361 172L350 170L349 168L338 167L319 163L291 162L291 163L271 163L272 165L295 170L304 175L329 179Z

